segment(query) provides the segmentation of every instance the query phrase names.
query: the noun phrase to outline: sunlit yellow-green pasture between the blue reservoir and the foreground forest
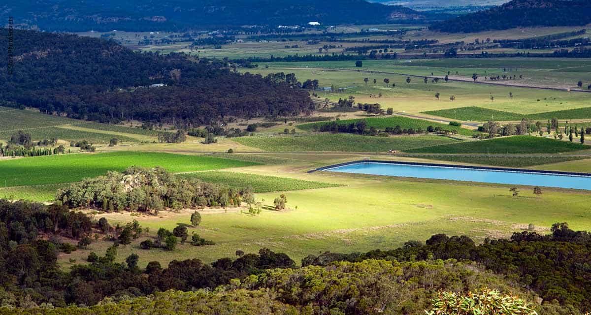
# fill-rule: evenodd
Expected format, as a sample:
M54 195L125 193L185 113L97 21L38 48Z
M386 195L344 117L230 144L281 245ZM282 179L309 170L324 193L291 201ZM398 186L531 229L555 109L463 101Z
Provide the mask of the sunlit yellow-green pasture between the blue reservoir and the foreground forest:
M290 177L282 173L281 176ZM588 193L545 190L535 196L523 188L512 197L509 187L450 181L405 180L350 174L313 174L313 180L346 184L346 187L300 190L285 193L288 209L265 208L260 215L235 209L202 212L199 227L189 227L216 242L211 246L179 245L172 252L139 248L139 242L155 235L158 228L173 229L190 223L190 212L160 213L158 216L98 214L109 222L138 220L150 233L131 245L119 246L118 261L131 253L139 255L140 265L173 259L198 258L206 262L233 257L237 249L257 252L260 248L285 252L300 259L318 252L363 252L391 249L410 239L425 241L435 233L468 235L477 242L484 238L508 237L533 223L544 233L555 222L569 222L573 229L591 224ZM299 176L298 176L299 177ZM265 205L272 205L278 193L257 194ZM564 207L568 204L568 207ZM67 259L84 261L90 251L104 252L111 242L99 241L87 250L78 250ZM68 265L66 258L62 258Z

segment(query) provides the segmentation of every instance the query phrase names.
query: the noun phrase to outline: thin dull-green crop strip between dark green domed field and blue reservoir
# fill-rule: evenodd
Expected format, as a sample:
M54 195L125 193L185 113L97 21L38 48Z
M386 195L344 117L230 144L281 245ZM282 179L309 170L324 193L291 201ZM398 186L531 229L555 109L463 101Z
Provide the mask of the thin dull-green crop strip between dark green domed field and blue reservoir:
M470 155L413 155L414 158L426 158L428 160L450 161L467 164L480 164L501 167L531 167L535 165L545 165L553 163L562 163L566 161L584 160L588 157L497 157L494 155L470 156Z

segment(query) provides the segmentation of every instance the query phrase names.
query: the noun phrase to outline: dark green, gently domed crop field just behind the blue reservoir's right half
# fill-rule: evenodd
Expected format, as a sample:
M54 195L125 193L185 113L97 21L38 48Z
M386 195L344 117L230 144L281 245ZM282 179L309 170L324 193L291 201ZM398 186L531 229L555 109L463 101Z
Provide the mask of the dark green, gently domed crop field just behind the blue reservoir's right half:
M407 150L414 153L560 153L588 150L589 145L527 135L495 138L481 141L462 142L459 144L437 145L434 147Z

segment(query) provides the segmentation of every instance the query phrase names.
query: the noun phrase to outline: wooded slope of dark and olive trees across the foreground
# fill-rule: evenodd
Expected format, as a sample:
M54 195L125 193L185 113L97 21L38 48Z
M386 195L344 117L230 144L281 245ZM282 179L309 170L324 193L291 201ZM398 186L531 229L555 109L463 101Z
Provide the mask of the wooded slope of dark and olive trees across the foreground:
M212 264L187 257L167 267L152 261L142 269L138 254L174 250L177 242L186 241L186 228L158 230L154 241L148 238L138 254L119 262L115 258L120 246L146 238L137 221L112 226L104 217L96 220L59 204L0 199L1 306L27 307L20 311L43 314L44 310L31 307L99 304L90 314L105 313L103 307L115 307L115 314L124 314L129 303L142 305L163 295L131 301L134 297L203 289L196 295L168 296L191 310L202 307L213 313L239 305L243 314L256 314L252 310L256 307L293 314L371 314L375 310L424 314L433 299L446 296L443 291L461 295L488 288L516 294L543 314L589 311L591 234L570 230L565 223L551 230L547 236L515 233L511 240L487 239L482 245L466 236L434 235L426 243L410 241L388 251L310 255L303 259L302 268L286 254L261 249L258 254L237 250L236 258L220 258ZM59 267L58 254L86 248L97 238L113 245L104 254L91 252L67 271ZM191 245L199 246L196 238L193 235ZM225 305L227 298L241 302ZM201 305L191 302L196 300ZM123 304L109 304L113 301ZM150 305L142 309L172 307ZM73 312L82 314L85 309L66 308L51 314Z

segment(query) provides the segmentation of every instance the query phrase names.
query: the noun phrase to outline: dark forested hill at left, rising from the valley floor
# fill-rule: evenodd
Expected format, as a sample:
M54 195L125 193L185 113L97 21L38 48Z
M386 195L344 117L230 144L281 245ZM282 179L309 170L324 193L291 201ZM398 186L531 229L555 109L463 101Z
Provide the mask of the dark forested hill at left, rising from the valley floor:
M7 32L1 29L0 38ZM7 59L0 63L0 100L46 113L200 125L313 109L306 91L234 73L223 61L135 53L114 41L69 34L15 31L14 38L14 74ZM0 54L7 56L7 49L1 46Z

